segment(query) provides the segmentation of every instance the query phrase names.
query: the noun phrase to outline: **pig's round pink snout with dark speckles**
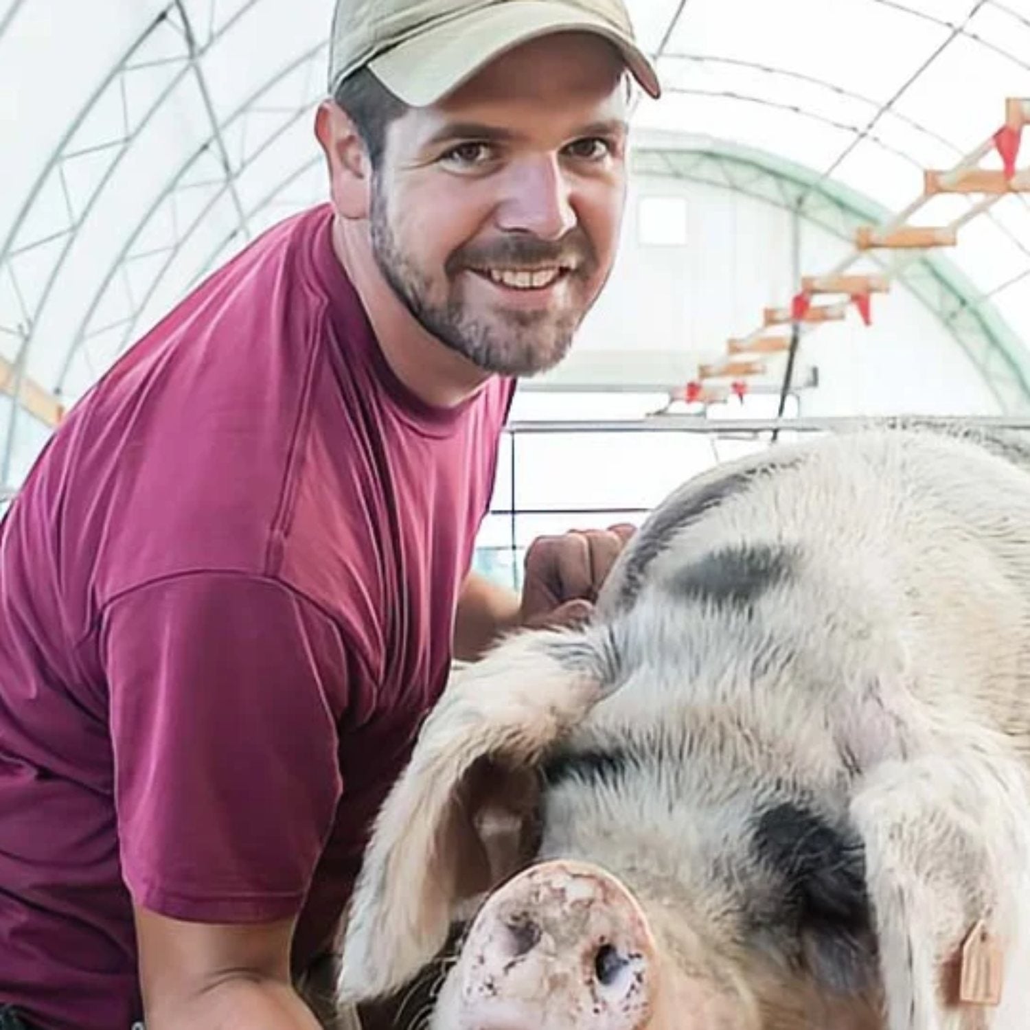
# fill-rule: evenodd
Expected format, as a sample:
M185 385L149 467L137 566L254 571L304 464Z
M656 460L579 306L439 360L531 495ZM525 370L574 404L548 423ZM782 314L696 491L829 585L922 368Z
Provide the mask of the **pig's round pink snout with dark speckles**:
M640 1030L657 972L633 897L570 861L531 866L493 894L460 966L461 1030Z

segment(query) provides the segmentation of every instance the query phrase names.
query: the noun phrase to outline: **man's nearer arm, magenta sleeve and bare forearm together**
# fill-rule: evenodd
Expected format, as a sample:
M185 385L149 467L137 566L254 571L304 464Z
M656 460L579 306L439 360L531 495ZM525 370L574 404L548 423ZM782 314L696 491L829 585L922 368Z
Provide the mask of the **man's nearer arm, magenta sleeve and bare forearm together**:
M103 641L147 1030L316 1030L290 942L335 824L359 654L306 598L235 574L119 595Z

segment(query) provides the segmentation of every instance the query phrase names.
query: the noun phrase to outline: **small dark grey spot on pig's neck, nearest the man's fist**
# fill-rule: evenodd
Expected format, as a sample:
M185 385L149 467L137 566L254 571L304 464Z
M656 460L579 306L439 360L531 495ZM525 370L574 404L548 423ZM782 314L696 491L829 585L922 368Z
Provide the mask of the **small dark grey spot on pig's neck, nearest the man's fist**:
M689 600L737 608L790 580L797 569L797 548L771 544L726 547L680 569L671 591Z

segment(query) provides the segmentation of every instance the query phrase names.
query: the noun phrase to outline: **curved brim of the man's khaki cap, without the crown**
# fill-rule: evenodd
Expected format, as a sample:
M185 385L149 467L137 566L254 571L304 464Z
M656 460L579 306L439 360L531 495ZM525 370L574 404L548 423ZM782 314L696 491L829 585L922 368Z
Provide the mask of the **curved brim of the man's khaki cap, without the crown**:
M651 97L661 85L650 60L611 23L582 8L540 0L480 7L398 44L369 62L376 77L412 107L435 104L506 50L554 32L592 32L613 43Z

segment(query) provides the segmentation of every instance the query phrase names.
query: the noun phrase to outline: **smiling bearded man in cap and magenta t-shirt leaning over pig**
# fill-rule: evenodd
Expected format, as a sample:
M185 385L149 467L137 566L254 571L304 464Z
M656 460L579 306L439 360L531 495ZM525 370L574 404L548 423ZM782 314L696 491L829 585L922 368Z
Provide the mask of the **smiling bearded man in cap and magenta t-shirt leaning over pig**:
M340 0L332 204L56 434L0 543L0 1026L317 1026L452 654L619 547L538 548L521 603L469 575L515 378L612 267L627 68L657 95L620 0Z

